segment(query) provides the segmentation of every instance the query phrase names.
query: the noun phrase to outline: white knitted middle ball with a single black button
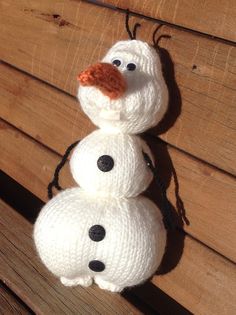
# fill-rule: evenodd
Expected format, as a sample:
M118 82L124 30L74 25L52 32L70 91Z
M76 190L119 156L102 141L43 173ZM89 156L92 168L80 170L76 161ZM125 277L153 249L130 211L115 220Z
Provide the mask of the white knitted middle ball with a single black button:
M107 197L135 197L149 186L153 175L143 158L152 157L139 137L96 130L74 149L70 167L75 181L87 192Z

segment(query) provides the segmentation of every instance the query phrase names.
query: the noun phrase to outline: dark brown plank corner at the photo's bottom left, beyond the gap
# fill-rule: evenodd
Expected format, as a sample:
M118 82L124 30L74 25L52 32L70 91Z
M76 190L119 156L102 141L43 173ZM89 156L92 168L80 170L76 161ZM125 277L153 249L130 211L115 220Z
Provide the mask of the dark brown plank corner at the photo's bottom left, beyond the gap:
M33 312L0 282L0 314L29 315L33 314Z

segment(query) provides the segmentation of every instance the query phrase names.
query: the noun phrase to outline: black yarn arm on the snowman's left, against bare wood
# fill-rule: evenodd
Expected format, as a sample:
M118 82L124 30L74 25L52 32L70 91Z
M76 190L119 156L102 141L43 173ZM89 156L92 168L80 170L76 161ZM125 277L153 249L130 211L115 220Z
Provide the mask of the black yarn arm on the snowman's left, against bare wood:
M59 185L59 174L63 166L66 164L67 158L70 155L71 150L74 149L74 147L79 143L79 141L76 141L72 143L67 149L66 152L64 153L60 163L57 165L53 179L52 181L48 184L48 199L51 199L53 197L52 189L55 187L57 190L62 190L62 187Z

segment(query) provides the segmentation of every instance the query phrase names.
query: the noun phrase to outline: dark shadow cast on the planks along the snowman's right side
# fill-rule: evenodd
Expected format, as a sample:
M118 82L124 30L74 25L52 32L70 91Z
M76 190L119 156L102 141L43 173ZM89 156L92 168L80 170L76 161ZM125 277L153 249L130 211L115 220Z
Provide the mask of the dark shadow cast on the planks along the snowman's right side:
M168 153L167 145L157 138L157 135L166 132L175 124L181 113L182 105L180 91L175 81L174 64L170 54L164 48L159 48L158 53L163 65L163 75L169 90L168 111L158 126L150 130L152 135L145 134L143 138L153 152L159 178L163 182L164 187L166 189L169 187L172 177L175 185L176 205L170 204L170 206L173 220L178 228L174 231L168 231L166 253L157 272L157 274L165 274L175 268L181 259L185 237L182 227L184 223L190 223L185 214L184 203L180 197L177 174ZM154 182L149 187L146 195L157 204L162 212L164 211L160 189Z

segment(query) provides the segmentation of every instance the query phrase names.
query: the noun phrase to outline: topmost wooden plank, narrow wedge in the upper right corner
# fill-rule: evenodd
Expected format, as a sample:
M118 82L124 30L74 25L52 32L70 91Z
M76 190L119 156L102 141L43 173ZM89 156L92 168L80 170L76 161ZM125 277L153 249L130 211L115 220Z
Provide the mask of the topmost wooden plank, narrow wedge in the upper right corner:
M234 0L98 0L209 35L236 41Z

